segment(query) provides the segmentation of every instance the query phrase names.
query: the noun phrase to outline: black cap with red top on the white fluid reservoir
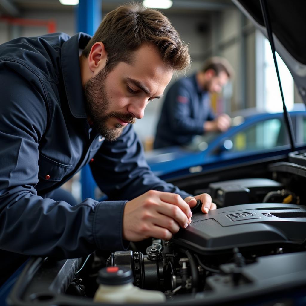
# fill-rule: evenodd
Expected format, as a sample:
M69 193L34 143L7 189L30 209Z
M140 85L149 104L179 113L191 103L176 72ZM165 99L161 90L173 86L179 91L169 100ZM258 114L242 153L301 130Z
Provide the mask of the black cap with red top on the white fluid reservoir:
M118 266L106 267L98 272L97 282L103 285L124 285L134 281L132 271Z

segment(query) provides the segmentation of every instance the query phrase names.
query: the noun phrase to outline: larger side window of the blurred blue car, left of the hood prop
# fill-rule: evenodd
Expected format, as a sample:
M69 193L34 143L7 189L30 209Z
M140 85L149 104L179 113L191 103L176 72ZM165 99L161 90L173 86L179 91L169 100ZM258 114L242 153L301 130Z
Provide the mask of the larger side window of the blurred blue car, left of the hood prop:
M256 151L289 143L285 125L278 118L257 122L229 139L233 142L231 152Z

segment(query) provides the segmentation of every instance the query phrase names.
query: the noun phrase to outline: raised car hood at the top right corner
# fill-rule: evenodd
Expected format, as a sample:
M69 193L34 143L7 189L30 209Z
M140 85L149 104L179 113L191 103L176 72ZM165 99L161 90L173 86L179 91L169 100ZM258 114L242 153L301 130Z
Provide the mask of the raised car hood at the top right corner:
M266 37L259 0L232 0ZM290 70L306 105L306 1L267 0L275 49Z

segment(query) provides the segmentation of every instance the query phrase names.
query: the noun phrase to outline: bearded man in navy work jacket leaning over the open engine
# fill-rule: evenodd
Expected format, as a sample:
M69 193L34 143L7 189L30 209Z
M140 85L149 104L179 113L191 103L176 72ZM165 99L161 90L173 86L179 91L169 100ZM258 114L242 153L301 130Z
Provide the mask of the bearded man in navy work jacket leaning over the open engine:
M108 13L91 38L17 38L0 46L0 282L28 256L76 258L129 241L170 239L191 207L215 209L153 175L132 123L190 63L160 12ZM90 163L108 200L49 195Z

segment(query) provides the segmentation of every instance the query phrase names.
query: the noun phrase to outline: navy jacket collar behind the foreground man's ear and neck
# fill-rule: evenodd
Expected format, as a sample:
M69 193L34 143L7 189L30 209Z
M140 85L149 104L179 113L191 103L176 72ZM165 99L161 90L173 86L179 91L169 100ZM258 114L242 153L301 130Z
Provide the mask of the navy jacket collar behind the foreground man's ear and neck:
M82 87L79 49L84 49L91 36L77 33L66 40L61 49L65 91L71 113L75 118L87 118Z

